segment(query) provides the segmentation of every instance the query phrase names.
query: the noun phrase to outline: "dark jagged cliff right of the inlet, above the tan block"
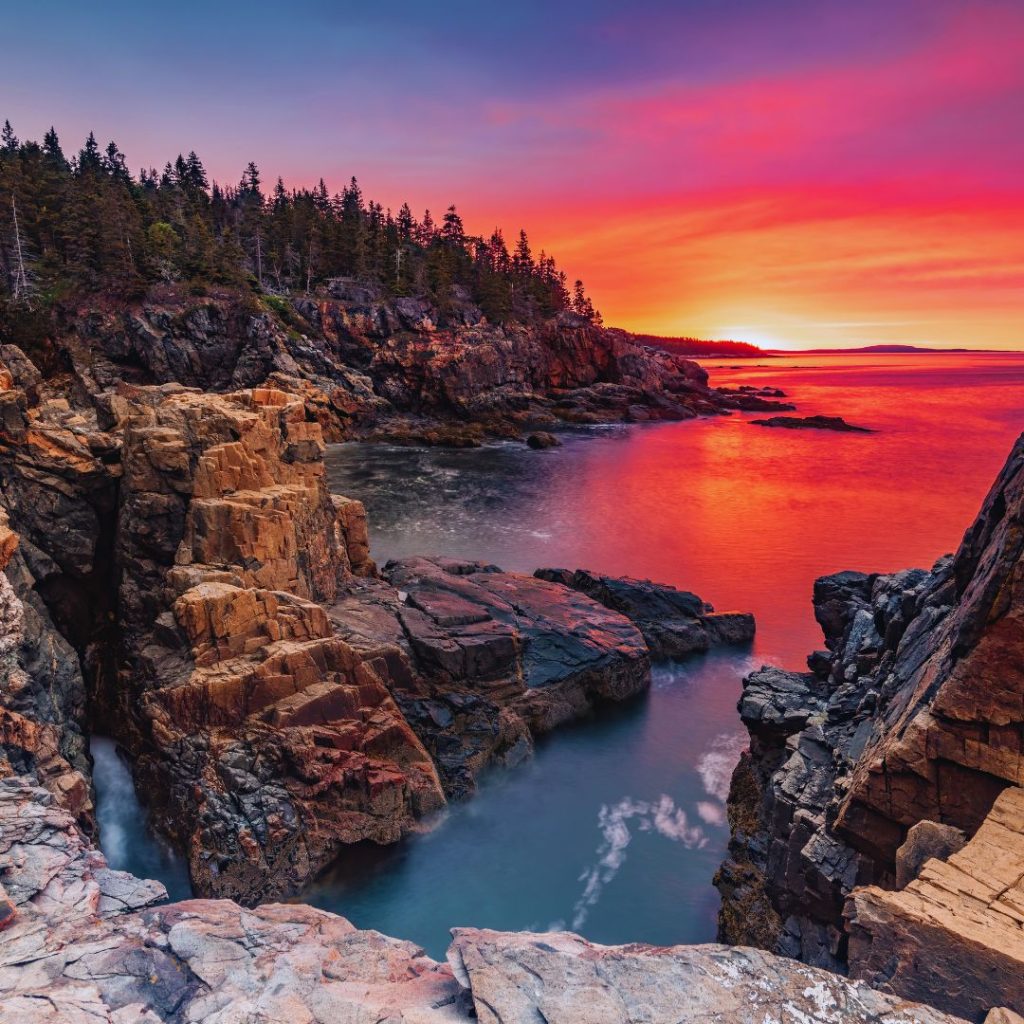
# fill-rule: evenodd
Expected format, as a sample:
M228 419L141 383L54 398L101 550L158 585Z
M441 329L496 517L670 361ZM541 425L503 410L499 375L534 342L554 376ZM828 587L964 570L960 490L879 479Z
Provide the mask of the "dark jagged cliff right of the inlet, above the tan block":
M744 681L723 938L842 967L844 901L895 883L907 830L972 835L1024 781L1022 549L1024 438L952 559L817 582L812 672Z

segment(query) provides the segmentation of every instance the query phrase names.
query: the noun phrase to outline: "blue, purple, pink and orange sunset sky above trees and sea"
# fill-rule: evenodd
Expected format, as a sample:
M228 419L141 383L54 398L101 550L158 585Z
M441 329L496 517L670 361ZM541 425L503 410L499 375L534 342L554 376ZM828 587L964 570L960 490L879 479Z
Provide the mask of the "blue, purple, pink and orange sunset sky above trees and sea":
M36 0L0 118L519 227L605 322L1024 348L1022 0Z

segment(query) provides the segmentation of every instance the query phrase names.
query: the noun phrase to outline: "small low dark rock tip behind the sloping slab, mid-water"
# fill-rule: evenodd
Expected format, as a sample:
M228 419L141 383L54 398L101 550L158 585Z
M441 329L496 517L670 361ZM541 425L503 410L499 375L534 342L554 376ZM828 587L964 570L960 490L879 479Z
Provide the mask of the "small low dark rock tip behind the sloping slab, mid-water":
M744 611L715 611L689 591L630 577L605 577L586 569L538 569L540 580L571 587L620 611L636 624L652 657L684 657L718 644L750 643L754 616Z

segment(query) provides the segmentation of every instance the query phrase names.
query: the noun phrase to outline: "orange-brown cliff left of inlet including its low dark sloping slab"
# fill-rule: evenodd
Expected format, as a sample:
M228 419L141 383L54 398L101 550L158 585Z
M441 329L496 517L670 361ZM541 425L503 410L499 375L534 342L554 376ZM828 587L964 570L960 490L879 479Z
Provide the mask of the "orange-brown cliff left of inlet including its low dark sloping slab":
M0 770L88 828L86 736L114 736L200 893L294 893L648 685L630 609L477 563L380 572L302 395L120 380L76 406L8 356Z

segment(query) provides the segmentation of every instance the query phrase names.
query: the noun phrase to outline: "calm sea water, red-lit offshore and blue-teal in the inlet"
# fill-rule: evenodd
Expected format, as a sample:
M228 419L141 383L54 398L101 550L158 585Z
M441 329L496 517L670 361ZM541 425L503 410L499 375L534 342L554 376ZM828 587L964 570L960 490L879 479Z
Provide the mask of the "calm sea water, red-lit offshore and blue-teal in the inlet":
M753 650L658 666L649 695L559 730L423 835L353 850L311 902L434 955L456 925L714 938L742 675L800 667L820 645L816 577L928 566L956 546L1024 430L1024 356L708 367L714 384L780 386L799 415L877 432L770 430L737 414L590 430L546 452L330 450L332 487L367 504L379 561L449 554L649 577L753 610L758 638Z

